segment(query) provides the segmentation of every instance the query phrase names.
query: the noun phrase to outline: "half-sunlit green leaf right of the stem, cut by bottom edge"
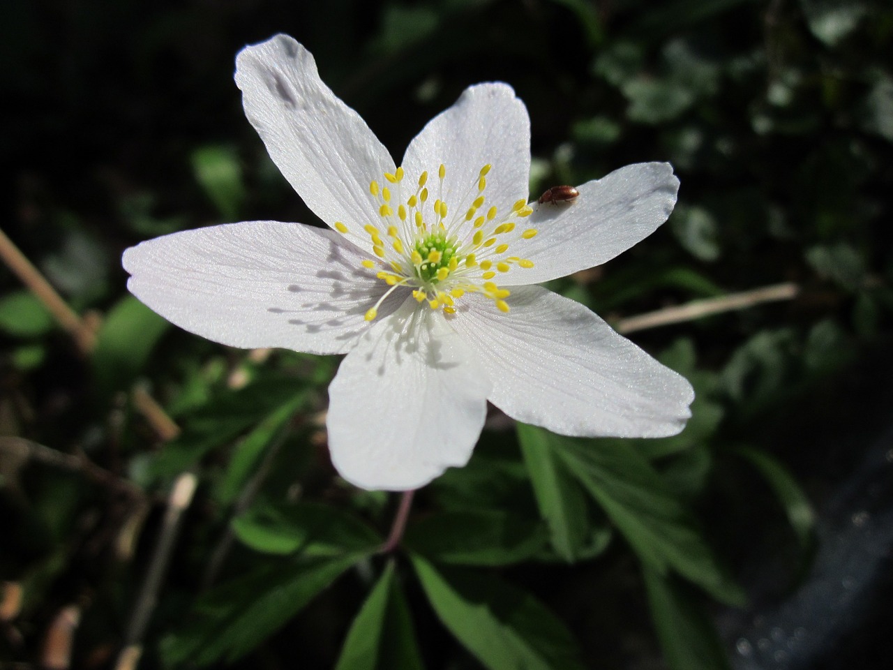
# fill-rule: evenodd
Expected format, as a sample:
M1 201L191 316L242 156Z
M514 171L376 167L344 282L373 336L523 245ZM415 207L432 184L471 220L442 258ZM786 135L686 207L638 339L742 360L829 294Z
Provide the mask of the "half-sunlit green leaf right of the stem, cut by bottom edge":
M438 573L413 555L421 586L440 621L491 670L578 670L571 633L529 593L493 575Z

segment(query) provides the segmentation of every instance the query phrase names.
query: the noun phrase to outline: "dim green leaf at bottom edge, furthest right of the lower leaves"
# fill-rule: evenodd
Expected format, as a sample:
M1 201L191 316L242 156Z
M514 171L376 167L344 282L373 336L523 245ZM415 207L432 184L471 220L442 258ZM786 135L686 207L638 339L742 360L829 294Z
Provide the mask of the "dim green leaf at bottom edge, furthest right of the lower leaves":
M729 667L713 624L694 594L671 576L646 568L648 604L671 670L723 670Z

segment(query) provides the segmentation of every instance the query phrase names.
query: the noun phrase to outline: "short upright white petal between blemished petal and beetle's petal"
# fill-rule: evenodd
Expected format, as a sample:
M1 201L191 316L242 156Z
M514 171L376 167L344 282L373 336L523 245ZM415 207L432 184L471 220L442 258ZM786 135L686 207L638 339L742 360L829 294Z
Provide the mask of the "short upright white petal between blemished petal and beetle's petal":
M438 167L447 168L444 189L438 190ZM508 214L515 201L527 198L530 175L530 117L507 84L478 84L466 88L455 105L439 113L413 139L403 168L414 186L422 171L429 172L431 198L447 202L453 215L464 216L478 197L480 169L491 164L486 204Z

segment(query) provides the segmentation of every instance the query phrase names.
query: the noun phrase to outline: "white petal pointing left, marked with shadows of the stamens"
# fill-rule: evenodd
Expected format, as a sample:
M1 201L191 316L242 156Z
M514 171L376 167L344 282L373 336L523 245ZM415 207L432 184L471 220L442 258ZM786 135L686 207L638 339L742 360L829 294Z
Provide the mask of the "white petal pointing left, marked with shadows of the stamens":
M388 287L332 231L255 221L185 230L124 252L127 288L165 319L230 347L349 351ZM402 302L391 296L379 314Z

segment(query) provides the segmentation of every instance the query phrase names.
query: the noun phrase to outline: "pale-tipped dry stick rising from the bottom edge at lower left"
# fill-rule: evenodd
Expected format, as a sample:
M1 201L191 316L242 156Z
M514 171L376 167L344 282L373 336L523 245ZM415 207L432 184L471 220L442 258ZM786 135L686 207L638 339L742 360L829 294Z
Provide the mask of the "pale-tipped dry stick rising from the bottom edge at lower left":
M121 649L121 654L115 663L115 670L134 670L139 662L139 657L142 656L143 635L158 600L158 590L161 588L164 574L167 573L167 567L171 561L171 552L179 533L183 513L192 502L197 483L198 480L193 473L182 473L174 482L171 495L168 498L167 513L164 515L158 544L155 545L146 581L143 582L137 604L133 608L133 615L130 616L127 635L124 638L124 649Z

